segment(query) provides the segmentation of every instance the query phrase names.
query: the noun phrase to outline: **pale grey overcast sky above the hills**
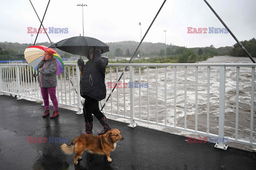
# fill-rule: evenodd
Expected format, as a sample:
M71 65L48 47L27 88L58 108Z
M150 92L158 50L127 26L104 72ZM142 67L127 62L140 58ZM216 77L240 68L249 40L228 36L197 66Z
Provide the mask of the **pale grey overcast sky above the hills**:
M39 18L48 0L31 0ZM164 1L159 0L52 0L46 12L45 28L68 28L68 33L49 33L55 43L62 39L83 35L82 7L84 6L84 36L104 43L140 41ZM256 38L255 0L208 0L238 40ZM0 41L31 43L28 27L39 28L40 22L29 0L0 0ZM174 44L187 47L232 46L236 42L229 33L187 33L193 28L225 28L203 0L167 0L144 42ZM33 43L36 34L34 33ZM49 41L45 33L37 43Z

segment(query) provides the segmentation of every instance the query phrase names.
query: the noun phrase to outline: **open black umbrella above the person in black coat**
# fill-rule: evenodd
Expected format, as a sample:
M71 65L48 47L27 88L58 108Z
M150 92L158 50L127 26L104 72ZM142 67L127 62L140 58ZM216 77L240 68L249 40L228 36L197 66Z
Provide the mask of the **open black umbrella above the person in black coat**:
M70 54L87 56L90 47L100 47L101 53L109 52L109 46L102 41L84 36L63 39L58 43L51 45L49 48L58 48Z

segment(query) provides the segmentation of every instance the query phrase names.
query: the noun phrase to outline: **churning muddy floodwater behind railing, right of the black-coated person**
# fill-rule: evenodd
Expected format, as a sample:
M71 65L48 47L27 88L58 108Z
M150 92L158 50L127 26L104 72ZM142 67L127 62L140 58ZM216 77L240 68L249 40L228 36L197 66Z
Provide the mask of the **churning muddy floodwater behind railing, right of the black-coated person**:
M218 56L209 58L199 63L252 63L247 57ZM113 67L113 70L116 70ZM184 127L185 112L187 114L187 128L195 130L196 113L196 69L187 67L187 105L185 109L185 67L177 66L177 87L176 87L176 109L174 107L174 67L166 69L166 92L164 67L147 69L141 71L141 83L148 83L147 88L134 89L135 118L151 122L165 123L165 112L167 124L174 125L174 113L177 114L177 126ZM217 66L210 67L210 106L209 106L209 132L218 134L219 116L219 71ZM121 75L118 72L118 78ZM116 82L116 72L112 73L111 82ZM130 82L129 72L125 72L125 82ZM254 79L255 80L255 79ZM250 115L251 115L251 67L240 67L239 69L239 115L238 115L238 139L250 139ZM106 83L110 82L110 75L106 74ZM121 79L123 81L123 78ZM134 73L134 82L139 82L139 72ZM157 82L157 83L156 83ZM156 90L157 86L157 90ZM255 83L254 83L255 86ZM254 87L254 89L256 89ZM111 88L107 88L107 96ZM149 90L149 93L148 91ZM125 94L125 98L124 98ZM166 107L165 107L166 94ZM118 96L118 98L117 98ZM254 94L256 96L256 94ZM236 67L226 67L225 87L225 136L235 138L235 116L236 116ZM254 97L255 98L255 97ZM111 99L111 98L110 98ZM125 105L124 105L125 100ZM118 102L117 102L118 101ZM254 99L255 101L255 99ZM198 67L198 131L207 132L207 66ZM102 103L103 104L103 103ZM141 107L140 107L141 106ZM254 102L255 106L255 102ZM105 111L105 109L104 109ZM112 104L107 103L107 112L130 116L130 89L119 88L113 92ZM254 114L255 115L255 114ZM256 118L254 116L255 136ZM255 139L254 139L255 141Z

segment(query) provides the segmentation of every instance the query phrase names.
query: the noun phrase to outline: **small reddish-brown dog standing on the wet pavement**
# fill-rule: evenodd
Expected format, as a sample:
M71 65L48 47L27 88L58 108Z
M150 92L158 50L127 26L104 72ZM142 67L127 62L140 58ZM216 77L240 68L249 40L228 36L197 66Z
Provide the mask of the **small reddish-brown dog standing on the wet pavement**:
M69 155L75 151L75 164L78 163L77 158L82 159L81 155L85 150L92 154L106 155L108 162L111 162L110 152L116 149L116 142L123 139L119 130L113 129L100 136L82 134L75 138L70 145L66 143L61 145L61 149Z

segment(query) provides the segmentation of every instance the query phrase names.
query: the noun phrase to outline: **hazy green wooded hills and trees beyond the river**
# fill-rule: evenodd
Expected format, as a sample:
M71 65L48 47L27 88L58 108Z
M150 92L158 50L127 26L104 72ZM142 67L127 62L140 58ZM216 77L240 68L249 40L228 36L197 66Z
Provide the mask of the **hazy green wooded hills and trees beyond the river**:
M138 47L139 42L135 41L121 41L115 43L106 43L109 46L110 52L105 53L109 58L115 57L131 57L135 49ZM250 40L241 41L241 44L247 49L247 51L256 57L256 39L252 38ZM19 44L19 43L9 43L0 42L0 60L24 60L23 52L25 49L33 44ZM49 42L37 43L36 45L50 46ZM56 49L57 53L61 55L62 58L73 57L73 54L63 52ZM145 57L165 57L165 56L181 56L186 52L193 52L198 56L221 56L221 55L231 55L238 57L245 57L246 54L242 48L236 43L233 46L219 47L215 48L213 45L210 47L196 47L187 48L182 46L176 46L173 44L166 45L164 43L142 43L135 57L139 58ZM142 56L142 57L141 57Z

